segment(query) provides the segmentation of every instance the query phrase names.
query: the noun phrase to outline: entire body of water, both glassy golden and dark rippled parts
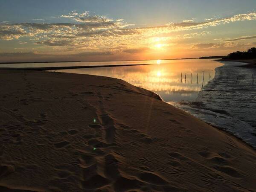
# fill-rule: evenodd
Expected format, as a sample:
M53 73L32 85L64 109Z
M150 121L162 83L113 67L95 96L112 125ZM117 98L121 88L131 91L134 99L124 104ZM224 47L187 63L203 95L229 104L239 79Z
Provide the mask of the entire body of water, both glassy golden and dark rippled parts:
M209 59L191 59L6 64L1 65L1 67L61 67L112 64L152 65L70 69L58 70L58 72L123 79L137 87L154 91L164 101L197 116L211 125L229 131L256 148L256 69L237 67L241 65L238 62L221 63ZM252 83L252 74L254 74L255 78L254 84Z

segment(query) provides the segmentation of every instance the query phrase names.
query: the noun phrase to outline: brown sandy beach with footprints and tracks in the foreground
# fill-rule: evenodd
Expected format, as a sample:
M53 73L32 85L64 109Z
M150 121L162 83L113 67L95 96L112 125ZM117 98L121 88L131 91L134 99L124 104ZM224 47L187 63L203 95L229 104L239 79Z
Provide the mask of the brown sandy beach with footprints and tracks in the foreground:
M0 191L256 190L252 148L148 90L9 70L0 87Z

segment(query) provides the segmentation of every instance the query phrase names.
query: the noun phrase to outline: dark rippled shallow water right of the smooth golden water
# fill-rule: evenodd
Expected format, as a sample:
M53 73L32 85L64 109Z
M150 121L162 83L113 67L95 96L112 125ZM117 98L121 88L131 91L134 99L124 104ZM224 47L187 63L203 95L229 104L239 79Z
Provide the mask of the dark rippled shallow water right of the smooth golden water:
M170 102L205 122L229 131L256 148L256 69L223 62L194 102Z

